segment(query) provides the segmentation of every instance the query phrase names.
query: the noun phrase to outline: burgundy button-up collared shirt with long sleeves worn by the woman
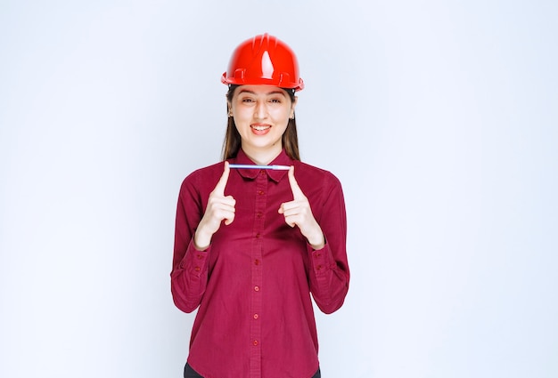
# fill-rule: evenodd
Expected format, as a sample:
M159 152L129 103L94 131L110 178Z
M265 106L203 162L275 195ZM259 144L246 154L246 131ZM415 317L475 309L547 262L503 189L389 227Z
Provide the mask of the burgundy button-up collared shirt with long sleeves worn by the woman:
M253 164L242 149L229 162ZM271 165L294 165L324 248L314 250L278 213L292 200L287 171L232 169L225 195L236 200L234 221L221 224L205 251L194 248L193 234L224 163L191 173L180 188L171 291L178 309L198 309L188 363L205 378L311 377L319 364L310 294L332 313L349 289L340 181L284 151Z

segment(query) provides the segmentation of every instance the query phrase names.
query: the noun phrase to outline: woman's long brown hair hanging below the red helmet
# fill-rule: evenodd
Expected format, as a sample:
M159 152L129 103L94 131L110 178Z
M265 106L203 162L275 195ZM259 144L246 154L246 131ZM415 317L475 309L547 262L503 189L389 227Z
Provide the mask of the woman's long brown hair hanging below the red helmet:
M226 92L226 112L228 114L228 104L233 102L234 90L240 85L229 85L228 92ZM294 91L291 89L285 89L289 93L291 102L295 101ZM289 124L285 129L282 137L283 149L289 157L293 160L300 160L299 153L299 137L297 135L297 121L295 117L289 119ZM226 124L226 134L225 141L223 142L223 160L236 157L238 151L241 149L241 134L236 130L236 125L234 125L234 117L228 117Z

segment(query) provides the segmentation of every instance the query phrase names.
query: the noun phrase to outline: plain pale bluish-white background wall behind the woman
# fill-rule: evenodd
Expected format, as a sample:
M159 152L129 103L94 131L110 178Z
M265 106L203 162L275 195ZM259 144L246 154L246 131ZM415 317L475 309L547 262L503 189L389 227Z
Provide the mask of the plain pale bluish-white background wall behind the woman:
M218 161L220 75L264 32L347 201L324 378L558 376L557 4L2 1L0 376L182 376L178 188Z

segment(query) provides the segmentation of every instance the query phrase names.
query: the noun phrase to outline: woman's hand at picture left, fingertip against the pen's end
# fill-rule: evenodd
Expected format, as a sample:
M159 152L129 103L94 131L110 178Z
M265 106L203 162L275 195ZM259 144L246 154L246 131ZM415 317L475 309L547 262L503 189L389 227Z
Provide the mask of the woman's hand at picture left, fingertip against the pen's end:
M198 229L193 238L193 243L198 250L204 250L211 244L211 237L221 227L221 221L226 225L234 221L234 205L236 201L232 196L225 196L226 181L230 173L228 162L215 189L209 193L208 205L201 218Z

